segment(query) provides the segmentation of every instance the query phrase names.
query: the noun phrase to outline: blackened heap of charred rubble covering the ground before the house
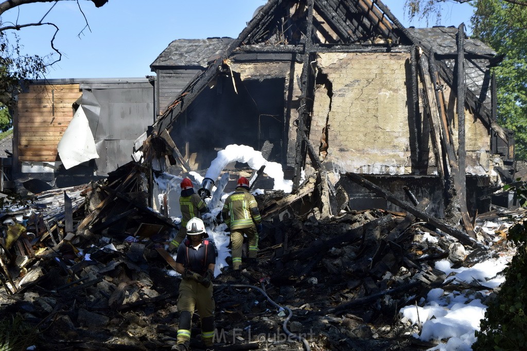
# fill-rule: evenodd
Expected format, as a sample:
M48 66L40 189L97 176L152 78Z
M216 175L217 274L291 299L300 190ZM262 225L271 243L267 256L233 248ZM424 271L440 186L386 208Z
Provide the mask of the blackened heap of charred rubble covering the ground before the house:
M158 350L175 343L179 278L164 252L174 223L148 207L143 172L127 165L98 183L4 198L0 312L32 327L24 347ZM257 196L265 223L257 263L240 276L224 269L214 280L219 349L305 349L302 338L313 350L430 348L411 336L419 327L398 310L435 287L487 289L453 282L434 262L471 266L512 249L507 225L495 236L476 229L474 242L456 237L460 229L426 216L426 199L416 206L400 200L414 208L408 213L341 208L323 217L319 192L311 178L296 194ZM514 216L524 210L496 207L474 227ZM201 347L197 335L193 349Z

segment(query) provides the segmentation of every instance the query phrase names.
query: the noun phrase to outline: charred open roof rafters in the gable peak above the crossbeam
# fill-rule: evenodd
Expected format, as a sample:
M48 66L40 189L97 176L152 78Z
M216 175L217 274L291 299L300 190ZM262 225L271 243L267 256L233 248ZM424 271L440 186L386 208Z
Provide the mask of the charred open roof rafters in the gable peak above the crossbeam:
M377 0L314 0L313 43L354 44L382 37L393 43L407 40L404 27ZM308 1L278 1L275 9L261 16L243 44L305 43L308 26ZM265 11L264 8L260 12ZM254 19L254 18L253 18Z

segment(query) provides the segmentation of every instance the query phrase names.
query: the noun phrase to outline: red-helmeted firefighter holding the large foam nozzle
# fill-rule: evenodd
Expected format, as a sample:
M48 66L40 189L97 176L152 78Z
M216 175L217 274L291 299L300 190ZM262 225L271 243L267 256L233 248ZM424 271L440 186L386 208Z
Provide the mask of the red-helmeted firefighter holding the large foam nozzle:
M169 252L176 252L179 245L187 235L186 227L190 218L198 217L204 213L210 213L209 207L194 193L194 187L189 178L184 178L181 182L181 197L179 198L179 206L181 209L181 227L178 235L170 242L168 246Z

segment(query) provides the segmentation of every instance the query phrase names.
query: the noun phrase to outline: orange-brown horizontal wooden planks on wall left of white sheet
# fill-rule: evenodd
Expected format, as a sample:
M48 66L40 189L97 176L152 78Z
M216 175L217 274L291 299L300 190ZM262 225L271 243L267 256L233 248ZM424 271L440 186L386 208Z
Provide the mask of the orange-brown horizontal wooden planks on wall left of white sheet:
M57 145L82 96L79 84L30 85L18 96L18 161L60 161Z

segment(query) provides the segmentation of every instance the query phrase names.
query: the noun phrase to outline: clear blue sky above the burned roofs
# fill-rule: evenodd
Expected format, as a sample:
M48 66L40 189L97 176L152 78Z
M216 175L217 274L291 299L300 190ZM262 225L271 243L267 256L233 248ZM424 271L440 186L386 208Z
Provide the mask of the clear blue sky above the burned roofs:
M150 64L174 39L237 37L264 0L110 0L96 8L79 1L90 29L84 28L83 14L75 1L60 1L43 22L56 24L55 47L63 53L61 62L47 78L110 78L152 75ZM149 6L145 6L148 3ZM405 26L426 26L408 22L403 0L384 3ZM6 12L6 22L35 23L53 3L27 4ZM472 8L467 4L444 3L441 25L469 25ZM435 24L435 20L430 25ZM84 28L84 31L83 31ZM51 26L24 28L18 32L26 52L50 54ZM79 33L83 33L79 35Z

